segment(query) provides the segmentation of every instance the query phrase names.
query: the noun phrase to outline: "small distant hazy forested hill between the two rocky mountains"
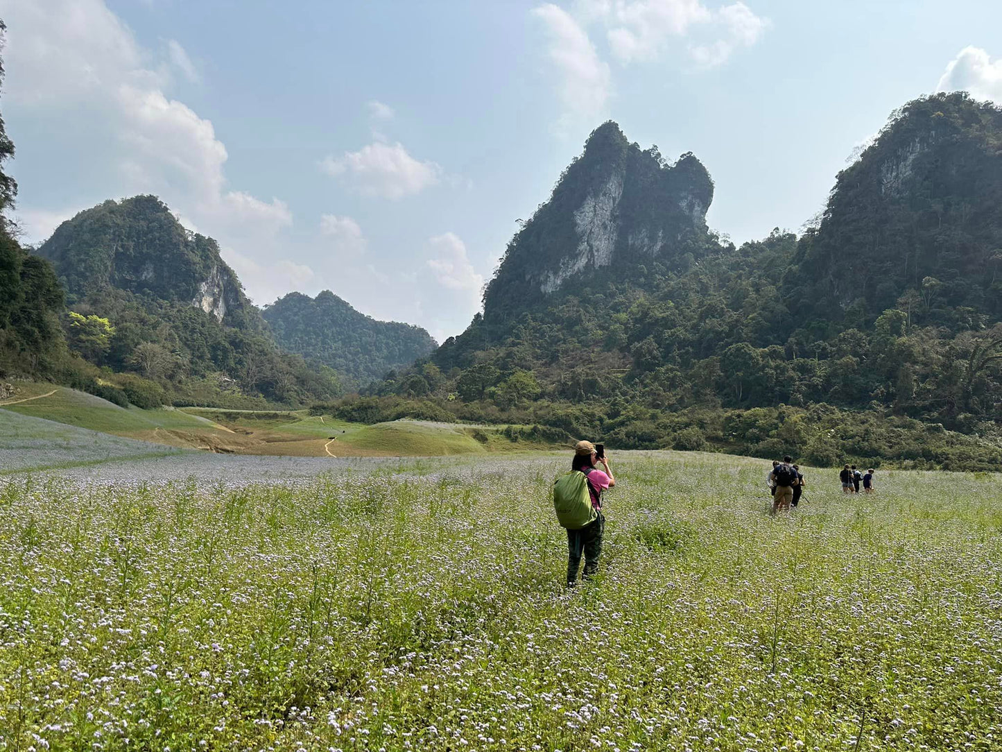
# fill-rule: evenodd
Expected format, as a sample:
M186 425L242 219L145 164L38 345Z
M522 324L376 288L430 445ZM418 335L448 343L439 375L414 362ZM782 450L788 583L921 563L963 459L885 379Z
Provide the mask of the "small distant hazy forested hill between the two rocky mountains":
M267 307L264 315L283 348L361 385L411 365L436 347L424 329L376 321L329 290L316 298L289 293Z

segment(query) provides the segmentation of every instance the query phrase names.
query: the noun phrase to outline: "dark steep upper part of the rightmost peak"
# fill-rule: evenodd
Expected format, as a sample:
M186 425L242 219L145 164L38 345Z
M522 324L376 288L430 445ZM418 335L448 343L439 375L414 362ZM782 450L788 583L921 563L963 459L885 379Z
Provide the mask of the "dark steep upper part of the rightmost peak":
M950 316L1002 315L1002 110L963 93L896 112L843 170L802 244L791 307L835 326L872 323L902 296Z

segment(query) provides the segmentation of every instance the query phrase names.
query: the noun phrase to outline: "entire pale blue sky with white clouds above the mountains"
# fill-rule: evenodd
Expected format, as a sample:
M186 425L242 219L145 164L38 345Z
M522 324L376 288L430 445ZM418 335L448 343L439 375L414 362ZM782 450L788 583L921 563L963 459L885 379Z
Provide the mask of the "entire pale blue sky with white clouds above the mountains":
M917 96L1002 103L995 0L0 0L23 241L159 196L259 305L331 290L439 341L595 127L798 232Z

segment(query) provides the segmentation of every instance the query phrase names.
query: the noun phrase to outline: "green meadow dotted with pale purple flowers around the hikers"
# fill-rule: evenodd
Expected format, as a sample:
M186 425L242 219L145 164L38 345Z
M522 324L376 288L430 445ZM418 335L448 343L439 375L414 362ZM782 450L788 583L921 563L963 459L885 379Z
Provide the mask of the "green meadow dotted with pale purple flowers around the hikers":
M0 481L0 749L998 748L1000 476L620 455L567 591L567 460Z

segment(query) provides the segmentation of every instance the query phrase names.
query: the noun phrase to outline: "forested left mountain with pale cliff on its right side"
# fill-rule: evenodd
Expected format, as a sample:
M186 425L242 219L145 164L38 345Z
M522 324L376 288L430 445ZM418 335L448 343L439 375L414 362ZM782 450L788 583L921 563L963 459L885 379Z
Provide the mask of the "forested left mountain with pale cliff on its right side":
M330 369L282 353L210 238L152 196L107 201L38 249L66 289L70 346L133 372L175 403L260 395L299 404L341 392Z

